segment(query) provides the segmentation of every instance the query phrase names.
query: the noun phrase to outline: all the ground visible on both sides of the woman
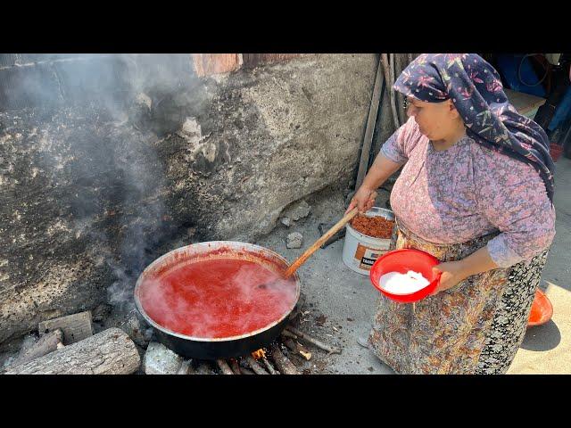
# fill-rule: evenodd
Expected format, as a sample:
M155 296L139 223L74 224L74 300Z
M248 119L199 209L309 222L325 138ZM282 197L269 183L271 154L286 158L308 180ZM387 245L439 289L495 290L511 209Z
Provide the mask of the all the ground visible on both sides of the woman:
M555 177L557 235L540 284L553 305L553 317L545 325L528 328L508 374L571 374L571 160L559 159ZM380 193L377 206L384 207L386 197L387 193ZM294 261L319 238L318 224L337 221L343 211L341 194L326 195L313 202L308 218L289 227L278 226L257 243ZM286 248L286 235L291 232L302 233L301 249ZM298 269L306 305L310 305L302 328L343 349L340 355L320 357L322 373L393 374L356 342L370 329L378 292L368 276L345 267L342 253L343 239L319 249Z

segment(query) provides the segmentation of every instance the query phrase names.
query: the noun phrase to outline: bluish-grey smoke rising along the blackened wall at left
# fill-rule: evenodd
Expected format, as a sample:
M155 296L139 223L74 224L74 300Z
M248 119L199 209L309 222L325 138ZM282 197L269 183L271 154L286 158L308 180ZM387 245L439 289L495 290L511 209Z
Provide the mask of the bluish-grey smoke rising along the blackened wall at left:
M108 301L131 309L137 277L178 231L156 147L194 102L190 54L16 58L0 111L18 122L21 146L39 154L21 162L34 165L56 201L60 217L46 231L87 242L78 251L103 257L111 274Z

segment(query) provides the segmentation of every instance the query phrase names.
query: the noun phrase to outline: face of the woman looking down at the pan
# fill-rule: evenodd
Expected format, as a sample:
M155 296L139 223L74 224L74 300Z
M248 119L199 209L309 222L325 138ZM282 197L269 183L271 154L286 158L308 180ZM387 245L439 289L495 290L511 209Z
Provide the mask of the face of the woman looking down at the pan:
M407 97L407 102L407 115L415 119L420 133L431 140L442 140L458 129L461 119L451 100L426 103Z

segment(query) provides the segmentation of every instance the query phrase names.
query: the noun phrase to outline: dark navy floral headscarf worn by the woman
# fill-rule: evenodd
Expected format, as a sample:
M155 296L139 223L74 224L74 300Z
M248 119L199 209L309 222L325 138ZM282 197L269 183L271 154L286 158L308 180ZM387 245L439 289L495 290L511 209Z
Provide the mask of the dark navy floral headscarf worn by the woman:
M402 71L394 89L426 103L451 99L476 143L529 163L553 201L555 165L549 139L534 120L517 113L498 72L476 53L423 53Z

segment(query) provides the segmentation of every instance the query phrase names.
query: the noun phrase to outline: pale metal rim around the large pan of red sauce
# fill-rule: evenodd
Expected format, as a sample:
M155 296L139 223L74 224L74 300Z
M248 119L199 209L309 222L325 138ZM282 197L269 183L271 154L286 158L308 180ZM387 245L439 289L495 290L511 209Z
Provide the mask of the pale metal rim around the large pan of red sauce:
M265 247L262 247L261 245L256 245L255 243L240 243L237 241L206 241L203 243L191 243L189 245L185 245L184 247L179 247L175 250L169 251L169 252L163 254L160 258L155 259L150 265L148 265L145 268L145 270L143 270L143 272L141 272L141 275L139 275L139 277L137 279L137 283L135 284L135 290L133 292L134 297L135 297L135 306L137 307L137 310L139 311L141 316L145 318L145 321L148 324L152 325L157 330L160 330L162 333L167 333L167 334L170 334L171 336L175 336L175 337L178 337L179 339L185 339L188 341L194 341L194 342L230 342L230 341L237 341L240 339L246 339L248 337L252 337L252 336L255 336L259 333L265 332L266 330L269 330L273 326L279 324L281 321L284 320L285 317L289 317L289 315L292 313L292 310L294 310L295 305L297 304L297 302L300 298L300 293L301 293L301 283L300 283L300 278L297 275L297 272L294 272L294 274L292 274L292 276L294 276L294 279L295 279L295 299L294 299L293 306L287 312L285 312L284 316L280 317L279 319L272 322L271 324L265 325L262 328L260 328L258 330L254 330L253 332L250 332L250 333L244 333L244 334L240 334L237 336L215 337L215 338L187 336L186 334L173 332L172 330L170 330L166 327L163 327L162 325L159 325L158 323L156 323L153 320L153 318L151 318L147 315L147 313L145 312L145 309L143 308L143 305L141 304L141 302L139 300L138 290L139 290L140 285L142 284L143 280L145 279L145 276L148 274L148 271L150 269L156 267L157 265L160 265L161 261L164 261L165 259L172 257L174 254L176 254L178 252L185 252L189 248L213 247L212 250L216 250L216 248L218 246L230 246L230 247L231 246L239 246L241 248L244 248L244 250L252 250L252 252L257 250L258 252L269 253L274 258L278 259L279 261L284 262L286 267L289 266L288 261L284 257L282 257L281 255L277 254L277 252L271 251Z

